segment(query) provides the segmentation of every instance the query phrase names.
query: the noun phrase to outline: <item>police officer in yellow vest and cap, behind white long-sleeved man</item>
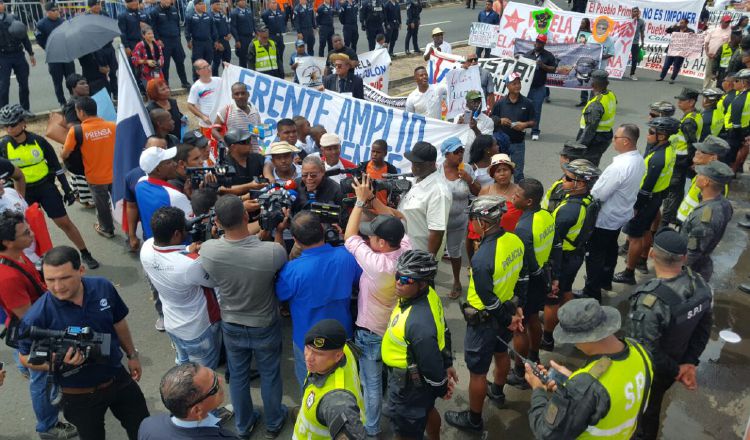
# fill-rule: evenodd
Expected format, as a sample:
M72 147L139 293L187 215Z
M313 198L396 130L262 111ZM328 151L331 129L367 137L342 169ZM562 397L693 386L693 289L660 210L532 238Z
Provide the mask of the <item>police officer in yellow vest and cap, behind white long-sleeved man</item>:
M606 70L591 72L592 97L583 107L578 142L586 146L584 155L591 163L599 166L599 160L612 142L612 127L617 113L617 97L607 90L609 74Z

